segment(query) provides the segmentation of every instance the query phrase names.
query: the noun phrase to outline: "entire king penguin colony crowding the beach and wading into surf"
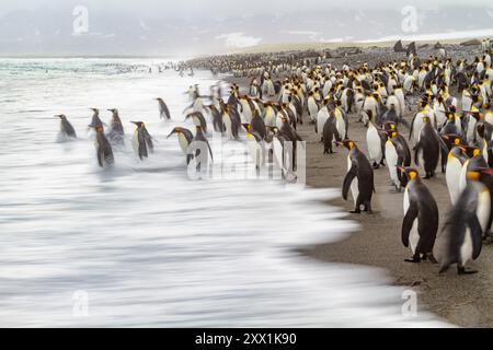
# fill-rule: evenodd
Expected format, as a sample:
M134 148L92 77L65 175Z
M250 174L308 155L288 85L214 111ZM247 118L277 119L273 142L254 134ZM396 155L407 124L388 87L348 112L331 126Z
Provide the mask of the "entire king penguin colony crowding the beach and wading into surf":
M210 88L209 96L202 96L198 88L191 86L193 101L185 110L196 128L175 127L182 151L190 162L191 142L205 141L208 126L205 115L217 132L230 139L239 139L245 132L250 154L256 168L264 166L268 155L284 156L276 152L286 142L297 147L301 137L296 131L308 114L309 122L323 143L324 154L333 152L333 145L348 150L347 172L342 186L342 196L352 192L355 208L371 211L375 192L374 171L387 166L392 187L404 191L402 243L412 252L410 262L429 260L439 262L440 273L457 264L459 275L474 273L466 265L475 260L483 241L491 240L493 221L493 69L491 47L472 62L431 56L421 59L410 54L401 62L368 63L353 69L342 69L331 63L309 67L306 65L259 61L248 68L243 75L254 75L245 94L240 94L233 83L229 98L221 98L220 86ZM228 57L225 57L228 60ZM284 81L274 82L273 74ZM457 90L461 98L450 90ZM265 96L267 98L265 98ZM404 119L410 98L421 96L419 112L412 121ZM204 98L210 105L204 105ZM158 98L160 116L170 120L165 103ZM111 128L104 132L99 110L93 109L96 155L101 166L113 160L112 143L123 142L124 129L116 109ZM349 117L367 128L365 154L357 143L348 138ZM73 128L64 115L61 132L76 137ZM133 121L136 130L134 149L140 159L152 151L152 137L142 121ZM409 128L409 140L401 133ZM170 137L169 136L169 137ZM409 141L414 145L410 147ZM207 143L208 145L208 143ZM213 156L209 147L210 156ZM195 154L196 155L196 154ZM412 166L414 159L415 167ZM288 162L294 171L295 162ZM284 164L279 162L279 164ZM424 179L435 176L439 168L445 174L452 207L443 225L443 253L434 256L438 232L438 207Z

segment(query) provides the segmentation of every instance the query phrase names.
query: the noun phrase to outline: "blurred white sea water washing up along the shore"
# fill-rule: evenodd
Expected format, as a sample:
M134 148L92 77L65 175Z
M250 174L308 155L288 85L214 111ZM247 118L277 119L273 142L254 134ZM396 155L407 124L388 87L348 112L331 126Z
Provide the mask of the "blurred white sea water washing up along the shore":
M0 326L444 326L402 313L385 271L319 262L297 248L356 230L326 205L339 190L242 178L243 142L214 138L225 176L192 180L172 127L208 72L148 72L152 60L0 60ZM223 89L226 91L226 86ZM164 97L172 122L159 119ZM116 107L126 145L100 168L92 112ZM78 132L58 138L68 116ZM139 161L134 126L156 152ZM237 173L232 173L234 168Z

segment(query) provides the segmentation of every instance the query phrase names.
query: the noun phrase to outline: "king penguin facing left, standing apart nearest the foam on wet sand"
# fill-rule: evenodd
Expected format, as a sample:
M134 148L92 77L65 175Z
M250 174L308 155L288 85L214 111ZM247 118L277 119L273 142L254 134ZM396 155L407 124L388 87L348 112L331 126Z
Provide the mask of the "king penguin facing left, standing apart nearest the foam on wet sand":
M352 140L339 142L349 150L347 155L347 173L344 177L342 196L347 200L347 192L353 192L355 209L351 213L360 213L362 206L364 211L369 214L371 211L371 197L375 192L374 170L366 155L359 151L356 143Z

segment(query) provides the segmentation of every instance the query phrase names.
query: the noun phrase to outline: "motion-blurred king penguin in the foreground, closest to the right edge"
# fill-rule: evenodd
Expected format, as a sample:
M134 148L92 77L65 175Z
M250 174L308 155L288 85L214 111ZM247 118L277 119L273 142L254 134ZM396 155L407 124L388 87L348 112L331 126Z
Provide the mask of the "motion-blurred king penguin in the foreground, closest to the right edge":
M466 264L469 260L475 260L481 254L480 217L485 213L479 213L478 209L491 206L490 192L482 179L491 177L492 172L490 168L475 168L467 173L468 185L451 209L440 237L444 242L444 249L438 257L440 273L445 272L452 264L457 264L459 275L477 272L466 270Z

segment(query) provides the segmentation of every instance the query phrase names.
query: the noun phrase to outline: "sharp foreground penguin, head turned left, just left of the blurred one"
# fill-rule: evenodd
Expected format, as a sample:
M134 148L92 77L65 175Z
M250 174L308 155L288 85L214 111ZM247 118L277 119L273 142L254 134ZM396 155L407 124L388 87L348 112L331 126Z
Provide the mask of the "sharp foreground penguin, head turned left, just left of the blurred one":
M421 262L433 256L438 231L438 207L428 188L423 184L416 170L399 167L408 178L404 190L404 220L402 221L402 244L411 248L413 257L408 262Z

